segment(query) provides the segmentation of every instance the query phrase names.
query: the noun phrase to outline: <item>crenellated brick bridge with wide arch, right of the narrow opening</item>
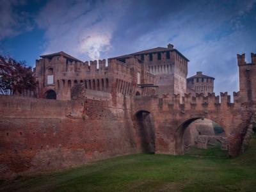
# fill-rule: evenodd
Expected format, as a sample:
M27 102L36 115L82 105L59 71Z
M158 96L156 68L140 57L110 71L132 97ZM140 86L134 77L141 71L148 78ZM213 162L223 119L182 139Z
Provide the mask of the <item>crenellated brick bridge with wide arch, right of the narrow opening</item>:
M147 111L152 115L157 154L184 154L183 137L188 125L200 118L208 118L223 127L228 154L237 156L250 116L250 111L241 113L246 106L237 102L238 97L239 93L234 93L234 103L230 102L227 92L207 97L200 94L196 97L190 94L185 94L185 97L159 95L150 99L137 97L132 104L132 113L136 115L138 111Z

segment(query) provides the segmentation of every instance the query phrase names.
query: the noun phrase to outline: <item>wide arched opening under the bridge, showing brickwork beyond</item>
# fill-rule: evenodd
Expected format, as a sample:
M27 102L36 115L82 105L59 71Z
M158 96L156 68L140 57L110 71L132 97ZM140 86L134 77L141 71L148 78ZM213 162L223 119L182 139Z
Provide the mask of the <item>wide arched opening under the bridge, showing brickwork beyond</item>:
M209 141L216 140L219 145L210 145ZM211 144L211 143L210 143ZM209 148L208 152L205 152ZM225 150L226 152L221 152ZM228 140L224 127L207 118L191 118L181 124L175 134L176 154L226 154Z

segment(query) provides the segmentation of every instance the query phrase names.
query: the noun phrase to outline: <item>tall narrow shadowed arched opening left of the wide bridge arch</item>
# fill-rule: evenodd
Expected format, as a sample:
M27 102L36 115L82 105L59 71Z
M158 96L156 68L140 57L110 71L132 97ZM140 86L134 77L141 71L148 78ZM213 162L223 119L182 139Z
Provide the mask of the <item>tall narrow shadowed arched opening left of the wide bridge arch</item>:
M145 153L154 153L155 127L152 115L148 111L138 111L135 118L135 126L140 138L141 151Z

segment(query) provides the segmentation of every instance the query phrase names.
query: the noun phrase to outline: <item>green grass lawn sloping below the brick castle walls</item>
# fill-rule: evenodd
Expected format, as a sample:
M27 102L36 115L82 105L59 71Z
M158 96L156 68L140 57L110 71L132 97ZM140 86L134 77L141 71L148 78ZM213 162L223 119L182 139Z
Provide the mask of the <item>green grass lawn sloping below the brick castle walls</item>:
M246 153L235 159L212 156L213 151L200 156L116 157L58 173L2 181L0 191L256 191L255 135Z

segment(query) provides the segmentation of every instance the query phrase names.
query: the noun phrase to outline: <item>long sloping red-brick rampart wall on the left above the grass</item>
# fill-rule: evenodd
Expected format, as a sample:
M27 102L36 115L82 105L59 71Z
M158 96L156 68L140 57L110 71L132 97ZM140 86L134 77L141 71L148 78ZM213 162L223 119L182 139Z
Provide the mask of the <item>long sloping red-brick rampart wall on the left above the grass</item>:
M0 175L12 177L139 152L129 99L46 100L0 96Z

